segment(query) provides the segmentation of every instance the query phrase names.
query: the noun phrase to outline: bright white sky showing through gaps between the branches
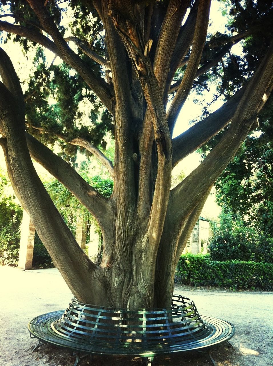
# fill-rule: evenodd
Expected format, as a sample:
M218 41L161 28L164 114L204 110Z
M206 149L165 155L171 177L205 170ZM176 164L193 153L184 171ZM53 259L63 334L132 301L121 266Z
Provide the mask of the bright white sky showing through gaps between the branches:
M225 2L227 4L227 2ZM209 31L211 33L214 33L216 30L220 31L221 33L225 32L225 19L223 18L221 14L221 8L223 7L223 3L219 3L217 0L212 0L211 5L211 12L210 12L210 28ZM12 22L12 18L5 19L7 21ZM70 36L71 34L66 34L65 36ZM1 44L1 47L8 53L10 56L15 70L18 72L19 78L22 82L23 89L26 88L25 79L27 79L27 76L29 74L30 70L30 62L27 60L26 55L23 54L23 52L20 50L20 47L18 44L14 44L12 42L8 42L7 44ZM241 53L242 52L242 46L238 43L235 46L232 47L232 51L234 53ZM30 55L29 55L30 56ZM46 57L48 59L49 65L51 64L54 55L52 52L47 51ZM29 59L32 57L30 56ZM58 63L60 60L58 58L56 59L55 63ZM211 90L208 92L206 91L202 98L204 98L207 101L211 101L213 94L216 92L214 87L211 87ZM186 131L189 128L189 121L195 119L196 117L200 116L202 114L202 105L201 104L194 104L194 94L190 94L189 98L185 102L182 111L179 114L177 124L174 128L174 134L173 136L177 136L181 134L182 132ZM217 108L221 107L223 104L223 101L218 100L211 106L211 110L214 111ZM198 164L200 163L200 156L197 153L190 154L188 157L186 157L180 164L177 165L174 169L174 175L179 174L181 170L183 170L186 175L188 175L190 172L195 169ZM1 168L4 168L4 157L3 152L0 150L0 165ZM38 166L38 164L35 165L37 171L39 172L39 175L42 179L46 179L46 177L49 177L48 173L41 167ZM216 218L218 214L220 213L220 208L215 204L214 202L214 196L211 195L208 199L208 202L205 205L205 209L202 212L203 216L209 217L209 218Z

